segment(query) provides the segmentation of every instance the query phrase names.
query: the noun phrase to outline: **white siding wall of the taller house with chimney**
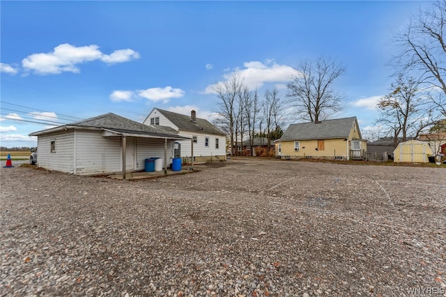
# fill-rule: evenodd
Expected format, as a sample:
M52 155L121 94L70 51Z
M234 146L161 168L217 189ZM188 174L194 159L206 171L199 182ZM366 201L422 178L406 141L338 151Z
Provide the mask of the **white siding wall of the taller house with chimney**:
M199 132L180 131L180 136L194 137L197 136L197 143L194 143L194 157L205 157L226 154L226 137L222 135L211 135ZM205 139L209 138L209 146L205 146ZM218 138L218 148L215 148L215 139ZM181 144L181 158L190 157L192 155L192 139L178 140Z

